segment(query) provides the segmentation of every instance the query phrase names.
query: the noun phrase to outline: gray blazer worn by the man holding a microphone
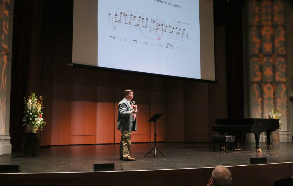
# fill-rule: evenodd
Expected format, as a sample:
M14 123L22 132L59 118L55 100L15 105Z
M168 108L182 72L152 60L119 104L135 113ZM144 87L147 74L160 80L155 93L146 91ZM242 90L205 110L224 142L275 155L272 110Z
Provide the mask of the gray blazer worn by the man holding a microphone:
M133 121L132 108L130 101L123 98L118 103L118 118L117 118L117 129L123 131L137 131L137 117Z

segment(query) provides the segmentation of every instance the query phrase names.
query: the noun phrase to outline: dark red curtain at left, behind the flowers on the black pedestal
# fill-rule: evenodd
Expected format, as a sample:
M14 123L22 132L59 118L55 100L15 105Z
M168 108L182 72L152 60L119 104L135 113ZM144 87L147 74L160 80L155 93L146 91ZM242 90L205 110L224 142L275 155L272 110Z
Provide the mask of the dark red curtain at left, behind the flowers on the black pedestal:
M9 129L12 153L21 152L24 144L23 98L28 95L32 12L31 1L14 1Z

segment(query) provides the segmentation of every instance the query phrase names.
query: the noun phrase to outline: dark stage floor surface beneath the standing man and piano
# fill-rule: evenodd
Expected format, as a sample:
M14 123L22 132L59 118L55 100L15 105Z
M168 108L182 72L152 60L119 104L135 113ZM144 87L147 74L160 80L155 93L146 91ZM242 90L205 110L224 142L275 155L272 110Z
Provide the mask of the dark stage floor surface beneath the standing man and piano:
M0 164L19 164L22 173L58 173L90 172L93 163L114 163L115 171L120 171L250 165L250 158L259 157L266 157L268 164L293 162L292 142L273 144L272 149L260 143L261 153L256 152L255 143L243 144L242 151L228 149L225 153L219 151L219 144L213 152L212 143L157 142L156 147L165 157L158 151L157 158L151 153L144 157L153 147L154 143L132 143L131 156L136 161L122 161L119 144L50 146L42 147L40 156L35 158L24 157L23 153L2 155Z

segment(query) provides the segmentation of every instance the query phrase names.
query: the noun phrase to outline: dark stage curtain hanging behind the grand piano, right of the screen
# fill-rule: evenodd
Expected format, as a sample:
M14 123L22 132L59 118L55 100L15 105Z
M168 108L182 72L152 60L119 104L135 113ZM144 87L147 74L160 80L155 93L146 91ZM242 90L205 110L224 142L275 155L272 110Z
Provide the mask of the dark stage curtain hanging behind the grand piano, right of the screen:
M214 0L214 24L226 28L229 118L244 118L242 7L245 1Z

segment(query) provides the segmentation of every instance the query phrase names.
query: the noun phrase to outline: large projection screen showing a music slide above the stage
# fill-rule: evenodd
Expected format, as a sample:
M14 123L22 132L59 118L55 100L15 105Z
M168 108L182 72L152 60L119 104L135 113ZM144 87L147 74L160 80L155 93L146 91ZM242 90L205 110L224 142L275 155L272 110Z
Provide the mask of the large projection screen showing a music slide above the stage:
M212 0L74 0L72 63L215 81Z

